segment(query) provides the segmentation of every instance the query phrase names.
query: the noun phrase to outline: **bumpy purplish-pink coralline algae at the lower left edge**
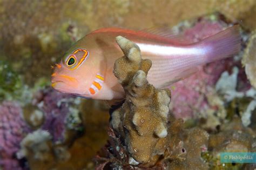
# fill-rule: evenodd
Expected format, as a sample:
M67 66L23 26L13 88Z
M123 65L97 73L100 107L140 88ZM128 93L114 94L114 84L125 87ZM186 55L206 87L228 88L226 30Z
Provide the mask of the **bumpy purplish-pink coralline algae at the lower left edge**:
M22 108L12 101L0 104L0 169L25 169L16 158L19 143L29 127L22 118Z

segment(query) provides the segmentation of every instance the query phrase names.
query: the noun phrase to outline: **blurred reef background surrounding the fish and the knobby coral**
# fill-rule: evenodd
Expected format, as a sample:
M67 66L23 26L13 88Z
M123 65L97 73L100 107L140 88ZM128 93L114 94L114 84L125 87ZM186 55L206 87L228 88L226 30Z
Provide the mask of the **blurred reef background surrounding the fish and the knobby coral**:
M224 151L255 152L255 16L254 0L0 0L0 169L255 168L218 158ZM90 31L167 26L200 40L233 24L241 25L241 52L173 85L163 126L170 126L166 140L176 147L160 162L129 158L134 153L118 136L126 138L125 130L109 127L106 103L50 87L51 66Z

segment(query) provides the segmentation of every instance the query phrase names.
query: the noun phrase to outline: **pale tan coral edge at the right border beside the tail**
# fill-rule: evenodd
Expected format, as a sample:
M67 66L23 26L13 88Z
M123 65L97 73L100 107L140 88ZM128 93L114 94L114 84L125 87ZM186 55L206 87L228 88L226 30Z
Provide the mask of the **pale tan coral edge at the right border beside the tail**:
M252 33L252 36L245 49L244 56L242 57L242 64L245 65L245 72L247 78L254 88L256 88L256 30Z

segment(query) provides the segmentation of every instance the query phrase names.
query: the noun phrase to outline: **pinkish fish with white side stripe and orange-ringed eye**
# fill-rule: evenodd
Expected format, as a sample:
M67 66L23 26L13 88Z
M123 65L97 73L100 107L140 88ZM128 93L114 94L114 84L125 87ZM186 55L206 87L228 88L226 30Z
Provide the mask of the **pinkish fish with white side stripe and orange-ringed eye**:
M113 74L114 62L123 56L116 43L118 36L136 43L142 58L152 61L147 74L150 84L159 89L171 87L196 73L200 65L236 55L241 47L239 29L239 25L233 25L198 42L165 29L98 29L65 52L52 73L52 87L89 99L122 100L125 92Z

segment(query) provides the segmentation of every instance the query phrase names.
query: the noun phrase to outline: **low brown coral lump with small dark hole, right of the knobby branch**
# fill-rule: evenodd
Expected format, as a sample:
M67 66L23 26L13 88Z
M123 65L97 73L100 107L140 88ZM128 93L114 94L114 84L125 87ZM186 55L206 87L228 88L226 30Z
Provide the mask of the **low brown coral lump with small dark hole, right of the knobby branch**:
M201 158L207 151L209 134L198 127L185 130L183 120L171 121L163 164L166 169L208 169Z

